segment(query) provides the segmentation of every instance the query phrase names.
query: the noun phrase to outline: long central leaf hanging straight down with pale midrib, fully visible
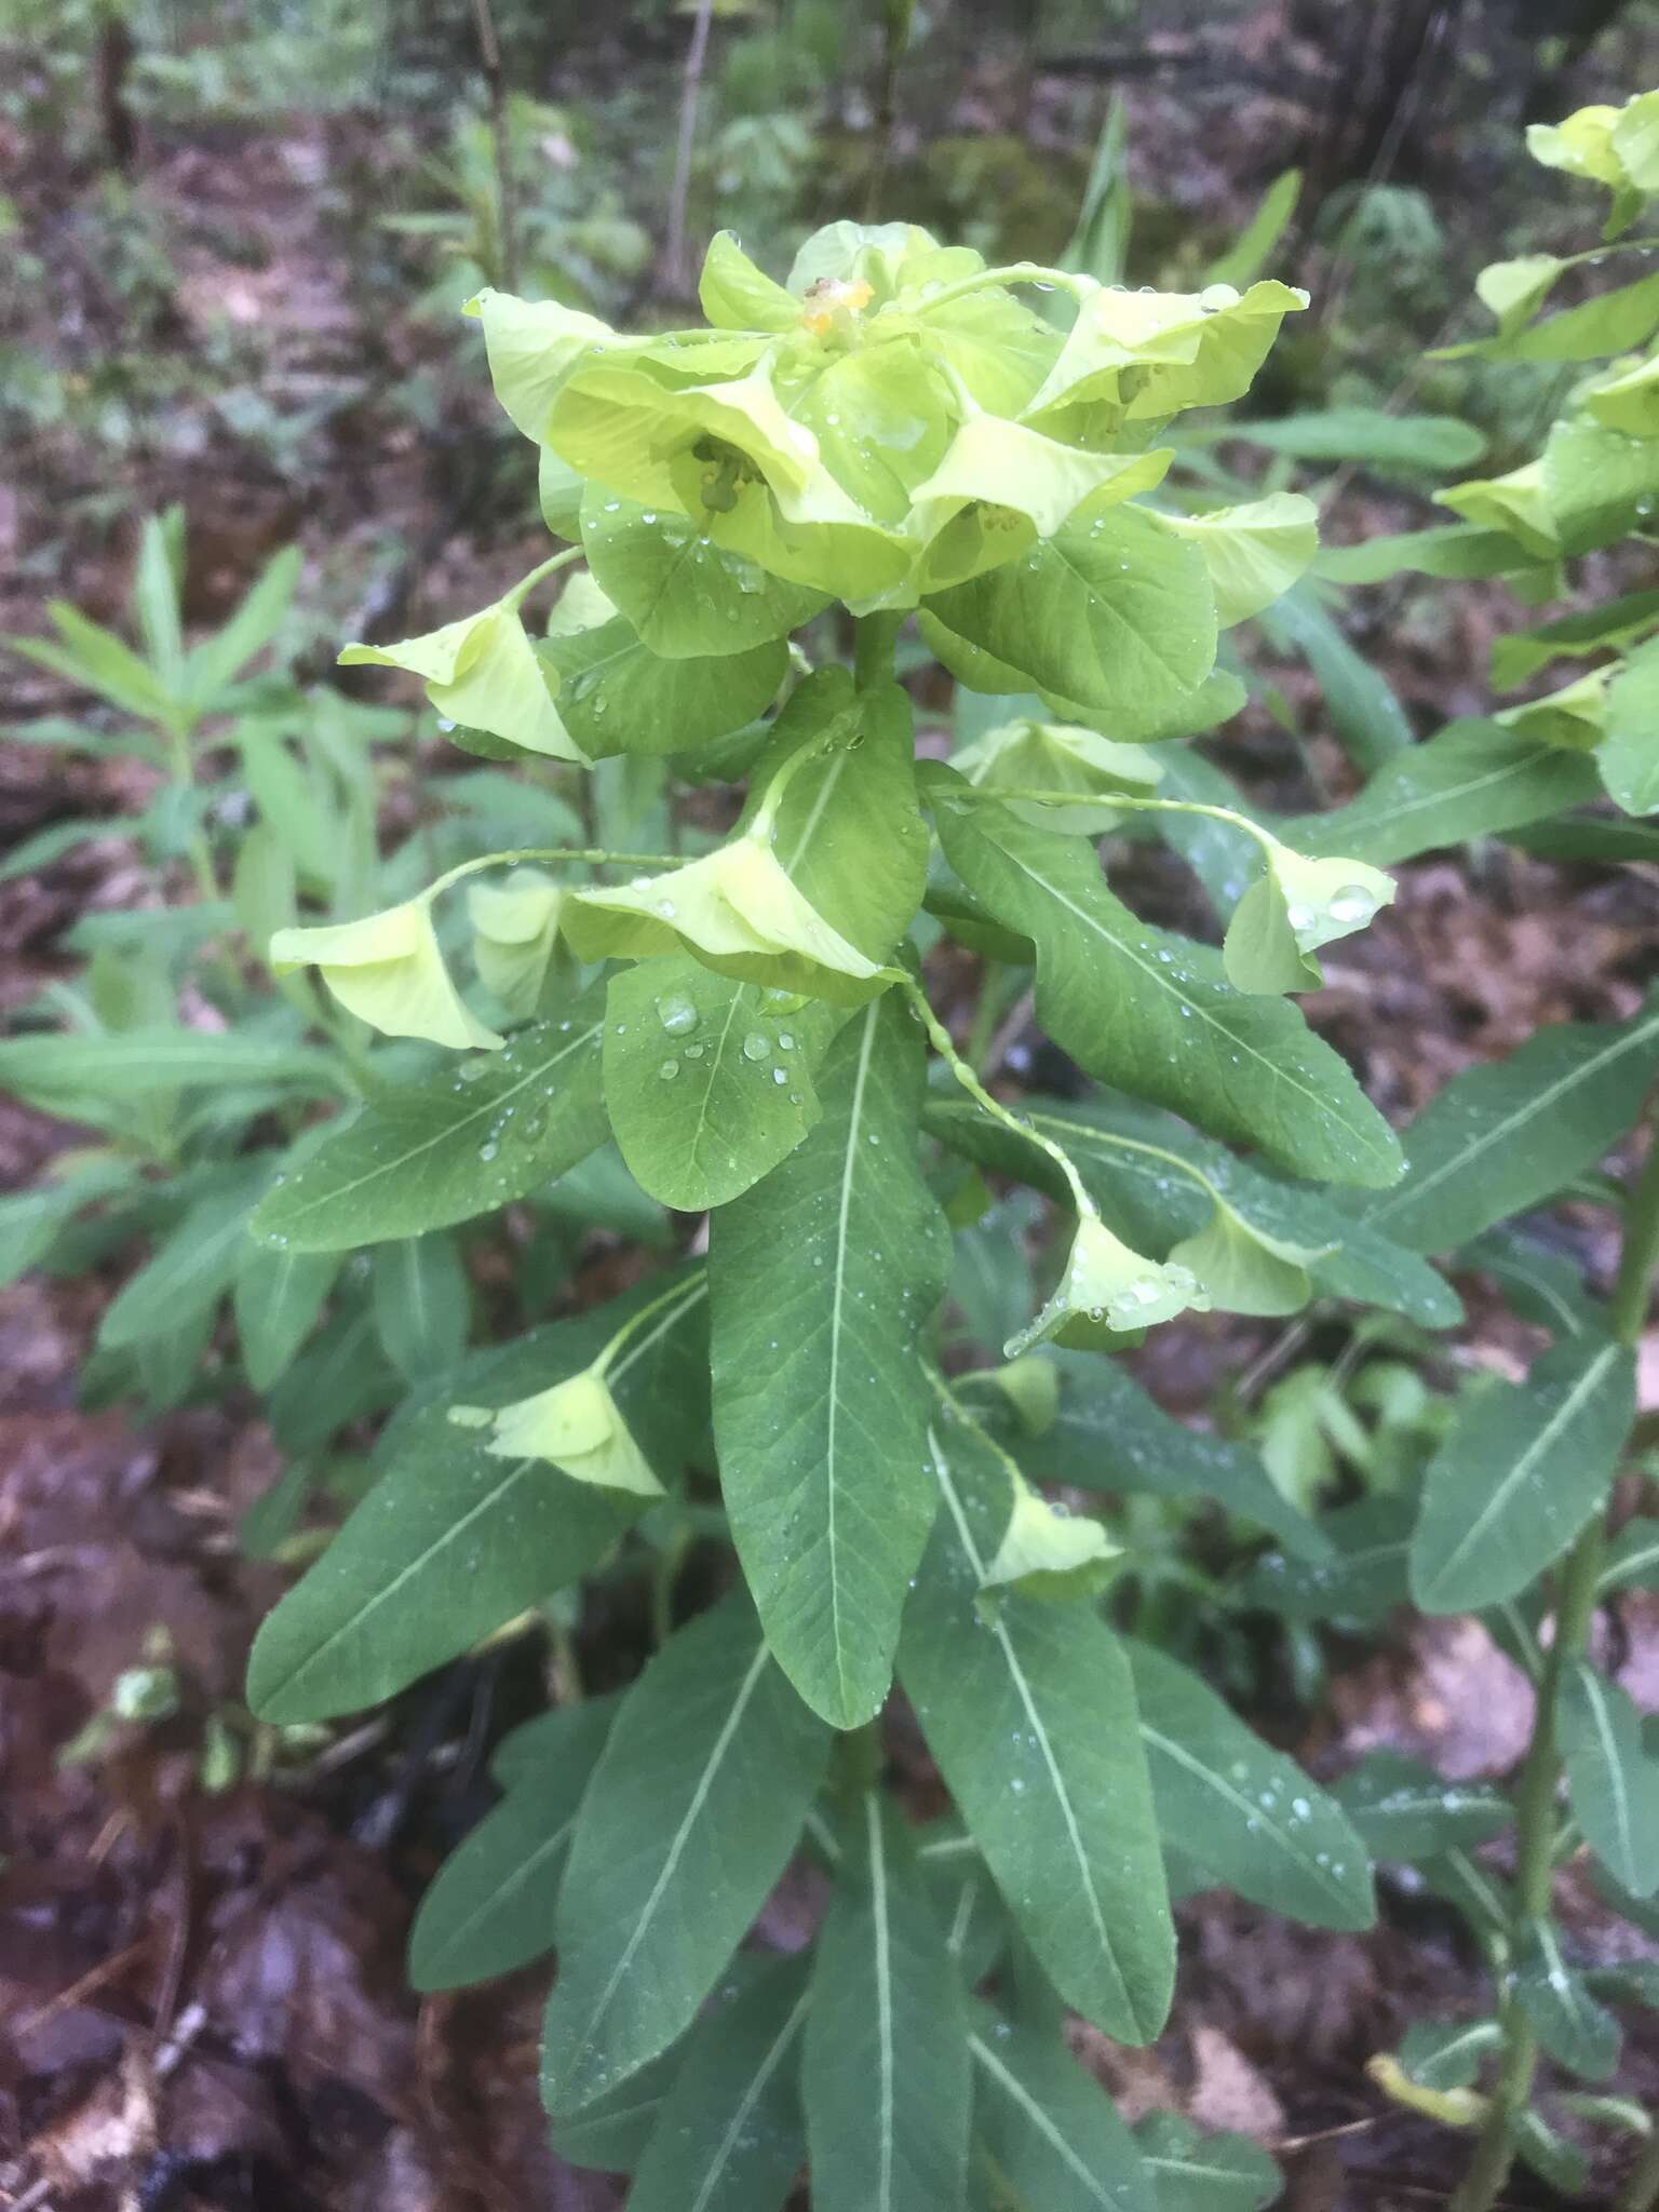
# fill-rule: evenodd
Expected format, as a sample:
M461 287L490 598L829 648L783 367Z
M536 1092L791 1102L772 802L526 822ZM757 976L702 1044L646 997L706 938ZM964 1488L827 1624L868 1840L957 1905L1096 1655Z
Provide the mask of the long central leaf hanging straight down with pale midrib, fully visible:
M858 1013L825 1057L818 1126L710 1225L732 1537L779 1663L838 1728L887 1697L938 1509L918 1338L949 1241L916 1159L922 1062L896 998Z

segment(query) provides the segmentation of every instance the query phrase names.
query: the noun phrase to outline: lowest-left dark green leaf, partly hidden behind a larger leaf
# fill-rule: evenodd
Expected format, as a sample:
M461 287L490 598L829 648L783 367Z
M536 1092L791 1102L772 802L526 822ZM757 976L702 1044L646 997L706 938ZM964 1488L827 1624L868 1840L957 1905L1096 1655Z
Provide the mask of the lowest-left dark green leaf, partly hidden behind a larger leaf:
M611 1697L542 1714L533 1756L420 1900L409 1929L414 1989L491 1982L553 1949L564 1854L613 1717Z

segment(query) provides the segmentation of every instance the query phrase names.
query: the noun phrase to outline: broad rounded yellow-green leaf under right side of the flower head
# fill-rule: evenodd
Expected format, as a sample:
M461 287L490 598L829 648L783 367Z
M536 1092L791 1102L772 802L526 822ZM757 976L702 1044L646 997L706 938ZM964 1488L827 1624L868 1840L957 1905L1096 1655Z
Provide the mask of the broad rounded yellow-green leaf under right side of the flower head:
M927 611L1020 675L1146 737L1214 664L1203 555L1139 507L1079 509L1020 560L933 593ZM1000 686L995 686L1000 688Z

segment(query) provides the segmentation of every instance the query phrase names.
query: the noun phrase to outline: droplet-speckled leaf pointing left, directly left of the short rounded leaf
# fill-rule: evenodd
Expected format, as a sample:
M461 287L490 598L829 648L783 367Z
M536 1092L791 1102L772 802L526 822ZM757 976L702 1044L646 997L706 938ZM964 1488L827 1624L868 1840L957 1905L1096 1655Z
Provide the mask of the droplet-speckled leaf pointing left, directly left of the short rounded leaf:
M341 1252L471 1221L551 1183L606 1137L604 984L555 1022L387 1088L261 1201L279 1250Z

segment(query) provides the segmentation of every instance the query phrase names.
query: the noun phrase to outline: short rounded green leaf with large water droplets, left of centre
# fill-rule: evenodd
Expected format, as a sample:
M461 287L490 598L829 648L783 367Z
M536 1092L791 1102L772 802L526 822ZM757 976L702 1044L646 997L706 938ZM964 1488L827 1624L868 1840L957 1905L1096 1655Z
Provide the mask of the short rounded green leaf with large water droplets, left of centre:
M816 1000L664 956L611 978L604 1086L622 1157L664 1206L726 1206L818 1121L838 1020Z

